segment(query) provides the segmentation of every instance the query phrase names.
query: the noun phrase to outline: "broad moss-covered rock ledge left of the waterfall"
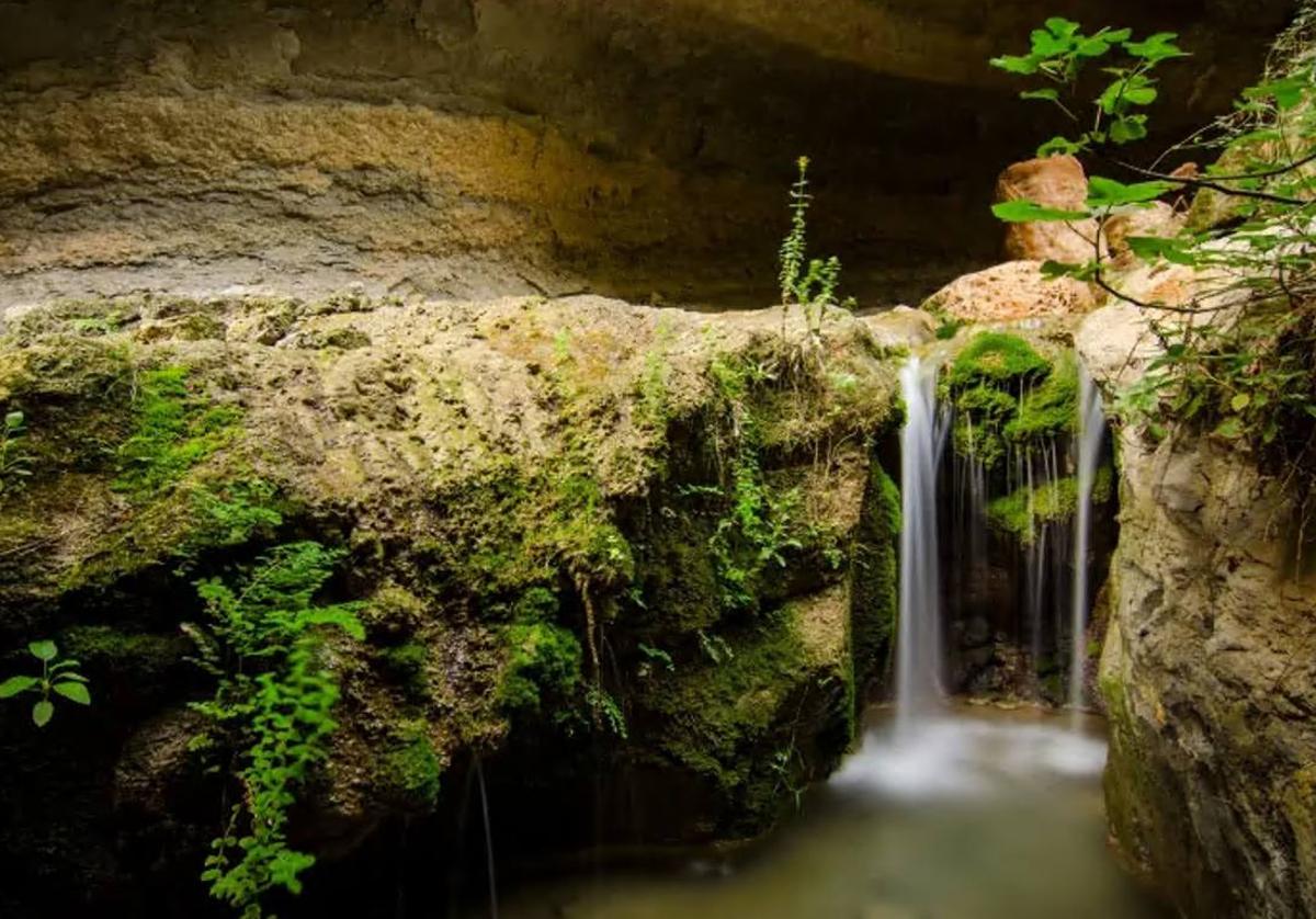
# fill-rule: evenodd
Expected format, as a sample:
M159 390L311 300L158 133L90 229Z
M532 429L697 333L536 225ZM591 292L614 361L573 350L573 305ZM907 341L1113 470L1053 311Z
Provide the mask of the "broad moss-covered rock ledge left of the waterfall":
M24 895L204 894L222 781L191 743L212 678L180 627L205 619L199 582L295 541L341 552L321 594L366 629L322 643L340 727L292 816L303 849L458 808L474 757L496 801L574 807L582 844L761 832L880 675L892 336L596 298L11 316L3 646L53 637L96 687L39 737L18 707L0 723ZM679 797L595 820L579 777L600 774Z

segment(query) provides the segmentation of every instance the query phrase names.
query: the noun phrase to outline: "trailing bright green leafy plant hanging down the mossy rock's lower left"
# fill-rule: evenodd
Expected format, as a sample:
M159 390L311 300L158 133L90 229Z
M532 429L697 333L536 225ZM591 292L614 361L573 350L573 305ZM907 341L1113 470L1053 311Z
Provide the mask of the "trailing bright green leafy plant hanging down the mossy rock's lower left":
M192 704L213 724L193 747L230 750L241 790L201 880L243 919L263 915L261 901L275 887L300 893L299 876L315 864L288 845L287 824L297 787L328 756L337 728L338 682L321 660L324 633L365 639L359 604L315 603L340 558L318 542L278 546L234 586L199 582L208 623L184 627L193 660L217 681L212 699Z

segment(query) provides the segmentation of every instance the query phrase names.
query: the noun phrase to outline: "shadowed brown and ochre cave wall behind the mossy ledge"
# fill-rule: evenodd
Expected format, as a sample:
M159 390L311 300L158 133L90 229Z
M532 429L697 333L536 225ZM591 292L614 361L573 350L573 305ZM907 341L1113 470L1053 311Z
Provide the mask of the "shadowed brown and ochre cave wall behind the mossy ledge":
M998 165L1061 126L988 57L1057 13L1186 30L1178 137L1287 7L8 3L0 308L350 286L758 305L800 154L816 249L851 292L917 300L992 259Z

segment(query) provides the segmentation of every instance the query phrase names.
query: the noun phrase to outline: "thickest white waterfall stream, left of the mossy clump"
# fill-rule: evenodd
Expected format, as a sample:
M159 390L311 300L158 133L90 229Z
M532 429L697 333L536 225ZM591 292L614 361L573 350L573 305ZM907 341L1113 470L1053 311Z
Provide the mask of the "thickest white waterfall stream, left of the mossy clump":
M941 681L941 581L937 565L937 466L948 433L937 412L937 367L911 358L900 371L900 623L896 727L936 707Z

